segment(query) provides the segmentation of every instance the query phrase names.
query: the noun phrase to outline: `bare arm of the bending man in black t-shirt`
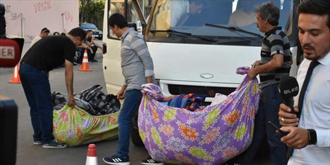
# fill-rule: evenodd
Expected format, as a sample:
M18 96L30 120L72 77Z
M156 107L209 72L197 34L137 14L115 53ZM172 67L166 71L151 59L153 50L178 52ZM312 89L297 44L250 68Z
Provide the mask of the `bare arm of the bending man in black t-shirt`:
M67 90L69 107L74 107L75 101L73 96L73 64L65 59L65 84Z

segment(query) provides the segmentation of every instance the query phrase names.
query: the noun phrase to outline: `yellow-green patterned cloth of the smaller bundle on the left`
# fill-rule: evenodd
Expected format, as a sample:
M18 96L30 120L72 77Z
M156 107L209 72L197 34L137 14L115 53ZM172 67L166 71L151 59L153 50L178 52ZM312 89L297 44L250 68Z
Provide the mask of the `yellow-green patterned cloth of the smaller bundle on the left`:
M53 110L53 135L69 146L111 139L118 135L118 114L93 116L78 107L64 105Z

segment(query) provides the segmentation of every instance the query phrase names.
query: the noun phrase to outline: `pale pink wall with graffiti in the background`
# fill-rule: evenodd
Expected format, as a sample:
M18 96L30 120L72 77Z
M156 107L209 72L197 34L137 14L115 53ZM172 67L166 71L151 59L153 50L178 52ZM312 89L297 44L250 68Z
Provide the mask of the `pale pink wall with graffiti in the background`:
M78 0L0 0L6 7L6 34L22 35L26 42L47 27L50 32L68 32L79 25ZM63 16L65 29L63 29ZM23 18L23 19L21 19Z

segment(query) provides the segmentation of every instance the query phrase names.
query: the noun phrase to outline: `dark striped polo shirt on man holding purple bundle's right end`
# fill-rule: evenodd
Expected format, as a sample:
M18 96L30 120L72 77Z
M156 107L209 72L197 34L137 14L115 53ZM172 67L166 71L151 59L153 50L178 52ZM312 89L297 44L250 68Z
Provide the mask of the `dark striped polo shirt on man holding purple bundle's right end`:
M261 88L276 84L282 75L289 75L291 68L290 41L281 27L267 31L261 44L261 64L269 62L274 54L283 55L282 67L267 73L260 73Z

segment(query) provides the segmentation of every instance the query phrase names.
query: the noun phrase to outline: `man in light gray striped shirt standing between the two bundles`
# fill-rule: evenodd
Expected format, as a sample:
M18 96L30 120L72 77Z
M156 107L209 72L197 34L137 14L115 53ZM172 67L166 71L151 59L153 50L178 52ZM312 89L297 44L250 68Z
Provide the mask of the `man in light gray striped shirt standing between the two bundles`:
M111 157L104 157L107 164L129 165L128 148L131 121L141 102L141 85L155 82L153 63L143 35L129 28L124 16L112 14L109 19L109 28L121 37L121 69L124 82L117 93L119 99L125 98L118 116L119 148ZM142 164L163 164L151 157L141 161Z

